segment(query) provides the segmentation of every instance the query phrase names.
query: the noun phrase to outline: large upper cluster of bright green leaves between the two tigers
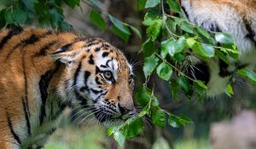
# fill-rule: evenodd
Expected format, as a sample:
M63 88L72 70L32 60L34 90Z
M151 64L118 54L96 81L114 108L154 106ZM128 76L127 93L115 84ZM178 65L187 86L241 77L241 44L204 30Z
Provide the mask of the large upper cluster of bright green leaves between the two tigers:
M207 32L189 22L183 16L176 0L140 0L145 11L143 25L147 39L140 52L145 54L143 72L145 79L156 74L170 83L172 95L177 99L178 90L190 98L195 94L204 96L207 85L189 75L184 68L191 56L207 61L218 57L228 65L238 60L238 50L233 37L224 32ZM232 87L226 93L232 95Z

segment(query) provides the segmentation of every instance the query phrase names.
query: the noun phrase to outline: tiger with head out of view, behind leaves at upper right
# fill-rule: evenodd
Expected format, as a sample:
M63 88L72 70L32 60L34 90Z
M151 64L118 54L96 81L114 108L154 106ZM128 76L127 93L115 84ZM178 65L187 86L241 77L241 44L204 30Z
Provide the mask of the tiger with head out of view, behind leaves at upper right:
M237 69L256 65L256 0L179 0L183 15L209 32L232 35L239 61L230 65L218 58L194 60L195 79L207 84L207 96L224 93ZM191 74L191 73L190 73Z

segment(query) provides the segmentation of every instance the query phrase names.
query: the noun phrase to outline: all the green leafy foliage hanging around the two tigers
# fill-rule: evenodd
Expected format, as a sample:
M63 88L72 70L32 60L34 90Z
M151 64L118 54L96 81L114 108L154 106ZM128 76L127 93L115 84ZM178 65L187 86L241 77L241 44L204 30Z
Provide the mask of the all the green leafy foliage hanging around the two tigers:
M88 17L102 31L106 31L109 27L125 42L129 40L132 32L142 37L136 27L105 12L100 1L84 0L82 2L91 6ZM74 9L82 2L80 0L4 1L2 4L5 8L0 11L0 28L25 26L37 22L39 26L51 26L53 29L68 31L73 27L64 20L63 8L67 5L70 9ZM229 34L207 32L190 23L183 17L176 0L138 0L138 9L145 13L143 25L147 26L145 42L139 51L145 55L143 72L146 83L137 90L136 94L137 103L143 107L143 110L123 125L108 129L108 135L113 135L113 139L117 140L120 146L124 145L125 138L133 138L141 133L145 117L149 117L160 128L164 128L166 124L178 128L192 123L190 118L183 114L174 115L160 108L159 100L154 96L154 87L149 89L147 84L154 72L170 83L175 99L178 97L179 90L183 90L188 97L191 97L193 92L203 95L207 89L206 84L187 76L182 70L183 61L188 55L193 53L203 60L217 56L230 64L230 59L227 57L237 60L239 54ZM107 18L103 18L102 14L107 14ZM237 74L256 84L256 74L252 70L241 69ZM234 94L230 84L227 86L226 93Z

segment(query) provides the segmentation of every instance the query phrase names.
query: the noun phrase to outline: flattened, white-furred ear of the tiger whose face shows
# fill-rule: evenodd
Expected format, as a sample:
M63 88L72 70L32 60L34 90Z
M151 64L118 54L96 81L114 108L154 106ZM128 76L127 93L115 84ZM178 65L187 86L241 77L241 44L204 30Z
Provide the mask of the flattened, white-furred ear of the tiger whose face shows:
M63 51L63 49L57 49L54 53L50 54L53 60L60 61L67 66L73 63L77 55L77 51Z

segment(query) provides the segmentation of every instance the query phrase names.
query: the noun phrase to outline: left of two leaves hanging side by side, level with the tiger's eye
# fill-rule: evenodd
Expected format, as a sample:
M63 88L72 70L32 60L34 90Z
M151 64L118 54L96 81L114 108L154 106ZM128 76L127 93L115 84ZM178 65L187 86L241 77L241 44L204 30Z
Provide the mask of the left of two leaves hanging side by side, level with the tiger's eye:
M154 71L154 68L158 65L159 59L153 54L144 60L143 72L147 78Z

